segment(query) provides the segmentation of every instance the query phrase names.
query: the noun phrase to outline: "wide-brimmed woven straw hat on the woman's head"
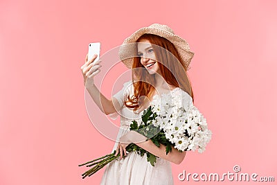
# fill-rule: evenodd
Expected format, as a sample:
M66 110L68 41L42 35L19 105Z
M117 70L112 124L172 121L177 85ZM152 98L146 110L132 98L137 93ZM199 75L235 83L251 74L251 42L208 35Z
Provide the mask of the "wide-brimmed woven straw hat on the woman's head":
M124 40L123 44L119 48L118 54L120 60L125 64L127 68L132 69L133 58L134 56L137 56L137 51L134 47L135 44L131 43L135 43L139 39L139 37L141 37L141 35L146 33L159 35L160 37L166 38L170 42L172 42L182 59L182 61L180 62L182 62L186 67L186 71L190 69L189 64L191 59L193 58L194 53L190 51L190 46L188 45L188 42L186 42L186 40L182 39L178 35L175 35L170 27L162 24L152 24L148 27L140 28Z

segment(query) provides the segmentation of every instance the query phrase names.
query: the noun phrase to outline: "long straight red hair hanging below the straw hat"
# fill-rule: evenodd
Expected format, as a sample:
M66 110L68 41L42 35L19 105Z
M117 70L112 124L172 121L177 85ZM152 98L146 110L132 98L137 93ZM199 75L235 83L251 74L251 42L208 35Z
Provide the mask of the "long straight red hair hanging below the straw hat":
M183 89L193 98L193 89L186 73L186 67L180 62L181 57L174 44L168 41L168 39L152 34L144 34L139 39L148 39L152 44L163 79L169 85ZM152 86L154 84L154 75L148 73L147 69L143 67L140 57L134 57L132 64L134 95L132 97L128 96L128 99L125 101L126 107L134 108L134 111L136 111L140 108L140 105L143 105L145 98L152 96L155 91ZM141 99L140 97L144 98Z

